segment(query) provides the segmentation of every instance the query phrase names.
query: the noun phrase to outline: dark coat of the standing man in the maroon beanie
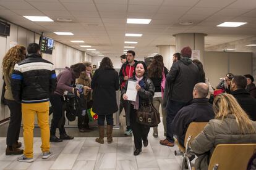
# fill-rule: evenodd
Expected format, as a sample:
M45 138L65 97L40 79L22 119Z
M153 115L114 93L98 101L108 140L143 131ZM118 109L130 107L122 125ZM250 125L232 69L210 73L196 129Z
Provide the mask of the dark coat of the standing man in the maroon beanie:
M198 78L198 67L189 58L182 57L173 63L166 76L166 83L169 86L168 100L185 103L192 100L192 92L195 84L199 82Z

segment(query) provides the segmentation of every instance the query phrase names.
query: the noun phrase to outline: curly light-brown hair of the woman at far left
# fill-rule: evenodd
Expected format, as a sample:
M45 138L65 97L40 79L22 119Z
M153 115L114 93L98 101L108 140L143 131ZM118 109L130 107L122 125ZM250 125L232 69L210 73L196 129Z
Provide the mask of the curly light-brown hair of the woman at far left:
M26 48L24 46L14 46L6 53L4 59L2 59L2 73L12 74L14 70L14 65L25 59L24 51Z

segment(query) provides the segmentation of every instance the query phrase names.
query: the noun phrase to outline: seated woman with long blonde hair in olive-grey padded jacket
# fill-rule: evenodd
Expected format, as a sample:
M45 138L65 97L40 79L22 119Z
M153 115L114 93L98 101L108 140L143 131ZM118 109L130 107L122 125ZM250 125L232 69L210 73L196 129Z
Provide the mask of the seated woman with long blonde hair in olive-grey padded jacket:
M218 144L256 143L256 122L249 119L233 95L216 95L213 111L215 119L211 119L190 143L198 156L195 169L208 169L211 155Z

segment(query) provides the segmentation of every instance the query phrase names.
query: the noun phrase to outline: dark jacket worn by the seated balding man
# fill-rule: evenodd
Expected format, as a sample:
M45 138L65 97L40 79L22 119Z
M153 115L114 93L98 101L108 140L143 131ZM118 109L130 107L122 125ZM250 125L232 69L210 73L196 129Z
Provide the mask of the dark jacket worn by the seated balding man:
M181 108L173 119L172 129L174 134L182 141L185 140L189 124L194 122L208 122L215 116L213 106L207 98L191 100L186 107Z

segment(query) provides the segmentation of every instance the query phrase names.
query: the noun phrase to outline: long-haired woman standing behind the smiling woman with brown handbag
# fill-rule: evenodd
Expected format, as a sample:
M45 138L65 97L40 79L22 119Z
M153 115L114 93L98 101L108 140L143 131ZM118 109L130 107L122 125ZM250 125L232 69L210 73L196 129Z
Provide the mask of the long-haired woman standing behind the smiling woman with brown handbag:
M156 54L153 57L152 62L148 66L148 78L150 78L153 81L153 84L155 86L155 95L153 97L153 105L158 111L159 111L160 105L162 108L164 136L166 136L166 111L163 107L163 88L161 88L161 84L162 84L163 78L165 78L166 75L168 75L168 70L166 67L164 67L163 56ZM153 136L158 137L157 126L153 127Z

